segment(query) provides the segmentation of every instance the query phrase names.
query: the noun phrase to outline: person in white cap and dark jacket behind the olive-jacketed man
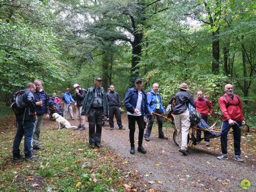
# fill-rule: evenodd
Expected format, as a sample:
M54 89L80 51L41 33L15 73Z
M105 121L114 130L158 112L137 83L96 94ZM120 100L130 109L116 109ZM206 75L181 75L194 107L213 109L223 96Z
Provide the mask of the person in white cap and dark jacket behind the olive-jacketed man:
M84 115L81 115L82 107L84 104L84 98L86 95L86 90L80 88L78 84L74 84L74 90L76 91L76 118L78 119L78 127L77 130L85 130L85 118Z

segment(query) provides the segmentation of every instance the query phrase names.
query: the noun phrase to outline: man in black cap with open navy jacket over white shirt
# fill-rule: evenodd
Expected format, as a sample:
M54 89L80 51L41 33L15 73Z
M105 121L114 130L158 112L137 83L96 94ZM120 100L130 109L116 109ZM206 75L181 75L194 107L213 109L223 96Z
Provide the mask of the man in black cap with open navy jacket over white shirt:
M148 113L148 102L146 92L142 90L142 80L137 78L135 80L135 87L130 88L125 97L124 105L126 106L128 115L128 128L130 130L130 154L135 154L134 146L134 132L135 132L135 121L139 127L139 140L138 140L138 152L143 154L146 150L142 147L142 140L144 135L144 129L146 128L146 120L149 116Z

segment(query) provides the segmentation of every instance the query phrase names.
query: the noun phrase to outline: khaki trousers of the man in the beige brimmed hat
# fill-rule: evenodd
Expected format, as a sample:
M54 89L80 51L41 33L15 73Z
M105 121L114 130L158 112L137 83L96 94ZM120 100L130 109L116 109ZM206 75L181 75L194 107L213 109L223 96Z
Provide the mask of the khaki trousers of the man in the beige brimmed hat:
M186 109L185 112L174 115L175 127L178 132L178 142L180 149L187 150L188 132L190 128L189 111Z

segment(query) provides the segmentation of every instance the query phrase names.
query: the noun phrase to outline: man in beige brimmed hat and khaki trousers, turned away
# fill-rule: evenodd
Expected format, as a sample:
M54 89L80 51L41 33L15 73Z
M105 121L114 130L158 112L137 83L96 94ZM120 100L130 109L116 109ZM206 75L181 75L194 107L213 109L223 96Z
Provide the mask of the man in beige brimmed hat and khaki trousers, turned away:
M194 100L192 95L190 95L188 90L188 85L186 83L182 83L180 85L180 91L175 94L173 114L174 114L174 122L175 127L178 132L178 142L180 146L180 152L183 155L188 155L189 150L187 147L188 140L188 131L190 128L190 114L188 111L188 104L190 103L194 106Z

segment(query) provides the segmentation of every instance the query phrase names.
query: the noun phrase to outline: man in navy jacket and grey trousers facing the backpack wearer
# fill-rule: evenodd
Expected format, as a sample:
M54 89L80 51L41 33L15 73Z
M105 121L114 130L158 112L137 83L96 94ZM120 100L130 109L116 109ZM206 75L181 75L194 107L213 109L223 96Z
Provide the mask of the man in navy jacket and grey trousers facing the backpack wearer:
M34 84L36 86L36 92L34 93L36 102L36 122L34 127L32 148L34 150L43 150L44 148L39 146L39 136L42 131L44 114L46 114L46 118L49 118L48 96L46 92L44 92L42 82L40 80L35 80Z

